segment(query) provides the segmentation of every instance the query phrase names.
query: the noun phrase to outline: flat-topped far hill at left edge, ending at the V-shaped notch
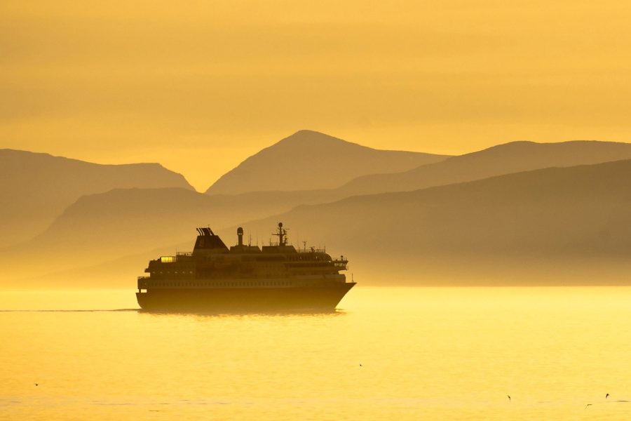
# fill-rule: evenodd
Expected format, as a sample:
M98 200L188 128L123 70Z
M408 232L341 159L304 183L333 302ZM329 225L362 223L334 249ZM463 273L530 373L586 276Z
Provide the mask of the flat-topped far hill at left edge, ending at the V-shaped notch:
M100 165L0 149L0 246L39 234L84 194L131 187L192 189L158 163Z

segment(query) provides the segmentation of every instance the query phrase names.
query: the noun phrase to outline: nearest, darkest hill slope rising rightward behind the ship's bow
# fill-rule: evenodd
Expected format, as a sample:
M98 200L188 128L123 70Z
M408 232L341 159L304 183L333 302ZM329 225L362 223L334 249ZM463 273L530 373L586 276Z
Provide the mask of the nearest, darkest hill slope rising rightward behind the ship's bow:
M629 180L631 160L546 168L299 206L243 227L283 221L348 255L370 283L631 284L616 272L631 269Z

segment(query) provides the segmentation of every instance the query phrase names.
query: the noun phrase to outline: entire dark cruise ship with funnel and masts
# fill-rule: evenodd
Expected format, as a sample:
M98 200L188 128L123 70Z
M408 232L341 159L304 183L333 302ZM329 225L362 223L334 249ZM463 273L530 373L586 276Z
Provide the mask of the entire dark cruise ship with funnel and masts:
M325 249L294 248L283 223L278 243L228 248L210 227L197 229L190 253L151 260L138 278L136 297L144 310L158 312L332 311L355 282L341 271L348 260Z

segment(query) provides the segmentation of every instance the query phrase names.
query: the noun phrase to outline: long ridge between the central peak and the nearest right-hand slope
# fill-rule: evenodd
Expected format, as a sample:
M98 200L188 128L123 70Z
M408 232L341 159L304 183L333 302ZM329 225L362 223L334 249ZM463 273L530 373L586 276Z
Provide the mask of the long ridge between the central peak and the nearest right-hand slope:
M538 168L578 166L631 159L631 144L571 141L559 143L510 142L438 163L391 174L365 175L338 189L339 196L404 192L455 182L481 180Z

